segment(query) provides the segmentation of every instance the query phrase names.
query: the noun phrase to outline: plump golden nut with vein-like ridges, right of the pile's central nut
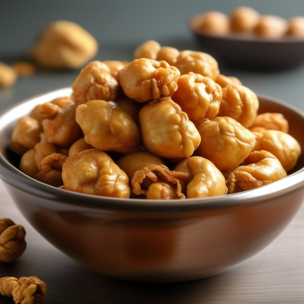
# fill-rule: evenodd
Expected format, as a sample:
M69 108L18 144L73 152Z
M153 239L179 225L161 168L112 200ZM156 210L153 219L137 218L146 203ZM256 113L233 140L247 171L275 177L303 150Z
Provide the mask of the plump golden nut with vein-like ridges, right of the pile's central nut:
M196 154L208 158L219 170L237 167L254 149L254 134L233 118L205 119L196 128L202 139Z

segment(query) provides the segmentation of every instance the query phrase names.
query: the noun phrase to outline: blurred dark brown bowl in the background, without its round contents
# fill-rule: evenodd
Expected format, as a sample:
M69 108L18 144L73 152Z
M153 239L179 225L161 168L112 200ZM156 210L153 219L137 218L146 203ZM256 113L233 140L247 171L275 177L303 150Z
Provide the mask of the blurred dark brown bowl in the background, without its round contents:
M265 39L254 34L208 35L199 30L201 15L188 26L203 51L234 67L254 70L280 70L304 62L304 39L283 36Z

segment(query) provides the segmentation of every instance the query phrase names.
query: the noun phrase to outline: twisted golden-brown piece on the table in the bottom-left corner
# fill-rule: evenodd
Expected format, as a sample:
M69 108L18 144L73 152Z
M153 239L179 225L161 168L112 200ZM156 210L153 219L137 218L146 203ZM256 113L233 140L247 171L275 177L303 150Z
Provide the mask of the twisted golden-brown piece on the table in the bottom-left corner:
M45 300L47 285L39 278L0 278L0 293L12 297L16 304L41 304Z

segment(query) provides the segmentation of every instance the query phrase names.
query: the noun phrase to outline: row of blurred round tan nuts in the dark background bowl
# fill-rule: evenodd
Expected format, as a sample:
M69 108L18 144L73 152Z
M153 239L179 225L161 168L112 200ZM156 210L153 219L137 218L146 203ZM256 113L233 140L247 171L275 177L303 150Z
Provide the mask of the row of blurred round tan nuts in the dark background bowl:
M284 35L303 38L304 17L296 16L288 21L274 15L260 15L247 6L235 8L230 16L221 12L207 12L199 17L197 30L210 35L254 33L257 36L277 39Z

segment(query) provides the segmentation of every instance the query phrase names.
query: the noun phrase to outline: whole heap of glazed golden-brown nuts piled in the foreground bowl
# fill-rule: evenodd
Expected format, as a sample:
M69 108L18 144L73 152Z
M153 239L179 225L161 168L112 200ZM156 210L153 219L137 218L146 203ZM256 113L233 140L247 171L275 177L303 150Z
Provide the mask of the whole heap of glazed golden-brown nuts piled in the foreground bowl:
M92 61L71 98L19 119L9 148L49 185L120 198L225 195L287 176L301 153L280 113L209 54L149 40L130 63Z

